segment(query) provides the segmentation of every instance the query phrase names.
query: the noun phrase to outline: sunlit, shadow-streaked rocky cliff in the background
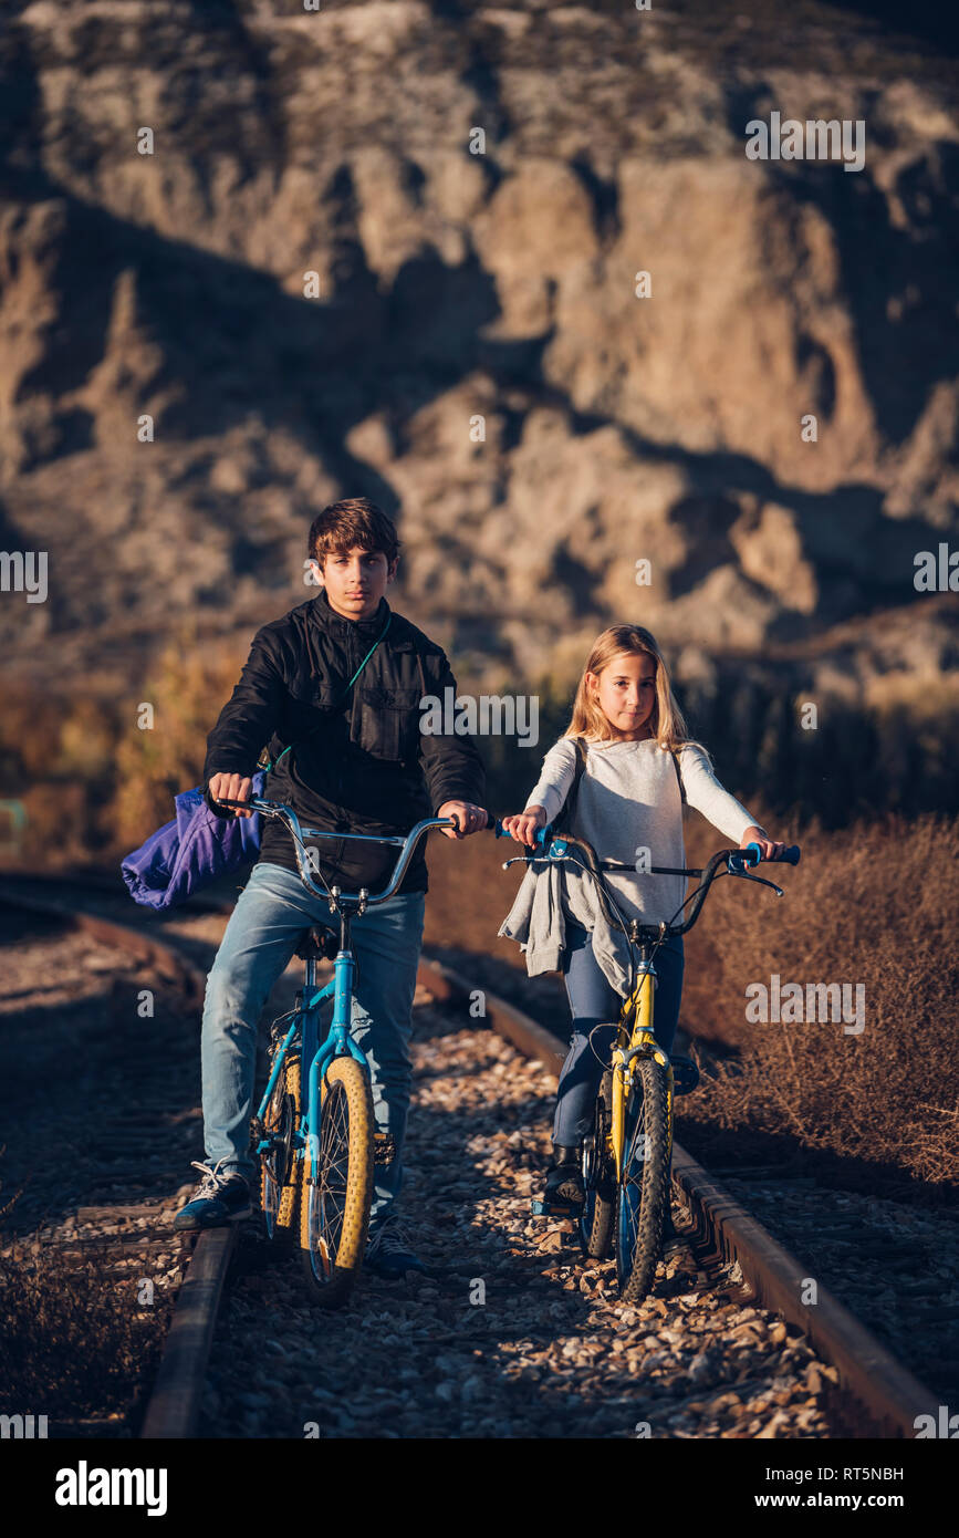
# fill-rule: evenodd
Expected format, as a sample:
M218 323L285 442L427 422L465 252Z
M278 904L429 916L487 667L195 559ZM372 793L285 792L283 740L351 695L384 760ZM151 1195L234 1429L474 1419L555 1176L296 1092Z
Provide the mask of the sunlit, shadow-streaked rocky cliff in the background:
M397 515L395 604L466 680L564 681L621 618L693 683L948 674L913 581L959 544L945 31L34 0L0 49L0 544L49 557L46 601L0 595L22 678L109 695L187 615L247 637L344 494ZM773 112L862 122L862 168L748 158Z

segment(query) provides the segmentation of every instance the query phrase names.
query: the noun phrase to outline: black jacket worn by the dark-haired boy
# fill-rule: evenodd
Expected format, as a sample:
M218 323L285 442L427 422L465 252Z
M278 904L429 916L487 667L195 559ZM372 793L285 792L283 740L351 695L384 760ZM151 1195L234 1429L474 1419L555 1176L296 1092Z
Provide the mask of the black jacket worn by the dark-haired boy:
M390 626L343 703L346 684ZM483 760L469 737L426 735L420 701L456 680L441 646L390 611L386 598L370 620L346 620L326 591L264 624L229 701L207 738L203 764L206 804L214 774L252 775L264 746L275 758L295 747L267 775L264 797L292 806L304 827L349 834L407 834L444 801L483 804ZM307 737L307 734L310 734ZM307 840L309 843L309 840ZM383 891L398 851L390 846L317 838L315 860L327 884ZM275 818L263 818L260 860L297 869L294 843ZM429 886L424 841L400 892Z

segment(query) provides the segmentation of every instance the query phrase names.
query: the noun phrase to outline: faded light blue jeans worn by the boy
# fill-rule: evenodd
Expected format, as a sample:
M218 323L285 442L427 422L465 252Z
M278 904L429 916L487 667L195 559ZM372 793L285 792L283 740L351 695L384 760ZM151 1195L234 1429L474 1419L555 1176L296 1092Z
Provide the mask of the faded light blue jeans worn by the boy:
M416 963L423 941L424 892L407 892L352 920L357 960L350 1035L366 1054L377 1129L390 1132L397 1157L375 1164L370 1233L386 1218L403 1184L403 1138L410 1101ZM326 900L314 897L284 866L254 866L231 914L203 1004L203 1135L211 1163L254 1175L249 1120L257 1070L257 1023L267 995L303 930L330 926ZM329 1018L330 1003L324 1006Z

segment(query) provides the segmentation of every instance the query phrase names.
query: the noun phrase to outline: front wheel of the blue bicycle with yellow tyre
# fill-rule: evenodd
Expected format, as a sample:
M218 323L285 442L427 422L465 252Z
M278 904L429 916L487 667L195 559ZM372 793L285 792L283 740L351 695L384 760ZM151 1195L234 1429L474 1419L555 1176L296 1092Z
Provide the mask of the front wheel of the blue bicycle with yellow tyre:
M300 1161L300 1253L314 1301L346 1303L366 1250L373 1198L373 1097L369 1074L338 1057L326 1074L320 1157Z

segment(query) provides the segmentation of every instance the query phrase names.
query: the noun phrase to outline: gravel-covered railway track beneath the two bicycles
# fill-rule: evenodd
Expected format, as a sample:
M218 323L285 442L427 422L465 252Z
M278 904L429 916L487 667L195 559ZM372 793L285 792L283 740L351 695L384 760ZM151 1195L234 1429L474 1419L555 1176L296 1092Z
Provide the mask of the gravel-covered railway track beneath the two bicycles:
M118 947L128 964L152 967L172 984L184 1017L195 1010L204 975L197 957L204 944L215 946L223 915L187 918L181 910L160 940L155 915L148 915L149 935L146 924L117 923L114 910L123 901L132 907L123 892L114 900L97 891L83 898L85 909L92 901L97 912L77 912L81 898L68 892L63 877L57 883L52 897L35 880L0 877L0 903ZM420 1098L407 1201L409 1210L424 1213L426 1238L444 1253L423 1297L401 1303L393 1289L364 1278L353 1307L320 1323L300 1295L295 1267L289 1270L254 1224L244 1224L243 1235L201 1235L186 1267L191 1240L175 1241L169 1229L181 1200L181 1192L169 1195L172 1177L166 1195L126 1204L114 1197L103 1210L92 1201L77 1206L63 1220L75 1220L72 1237L55 1232L65 1257L71 1243L86 1238L105 1275L124 1263L146 1273L163 1261L168 1290L177 1290L149 1404L140 1413L138 1401L114 1435L140 1427L144 1436L303 1436L312 1426L317 1435L562 1436L582 1435L586 1407L592 1435L913 1436L916 1416L936 1412L942 1380L927 1389L831 1295L821 1281L830 1275L828 1255L811 1273L808 1260L795 1260L744 1206L752 1206L750 1193L765 1190L781 1212L784 1192L802 1201L802 1180L733 1172L733 1195L678 1146L673 1193L687 1213L689 1249L661 1269L652 1298L621 1307L612 1263L582 1267L564 1232L570 1224L529 1220L562 1044L489 989L484 1017L470 1017L466 1003L475 990L449 966L424 961L418 983ZM189 1047L180 1046L187 1078L195 1078L195 1026ZM163 1094L172 1095L169 1110L177 1103L169 1078L149 1103L154 1117L164 1115ZM134 1120L144 1117L135 1112ZM129 1121L114 1120L120 1140L124 1126ZM184 1126L195 1140L195 1107ZM166 1138L169 1129L160 1130ZM450 1138L463 1170L450 1167ZM184 1167L186 1160L180 1173ZM815 1195L819 1227L831 1195ZM114 1232L85 1232L86 1223L103 1223L105 1212L114 1218L105 1227ZM954 1235L954 1224L942 1223ZM844 1243L850 1232L854 1244L847 1212ZM901 1272L898 1280L908 1286ZM951 1317L942 1287L928 1277L925 1286ZM910 1298L921 1310L916 1287ZM252 1381L244 1377L251 1332L264 1337ZM377 1372L357 1393L357 1363L370 1358L370 1338L389 1349L395 1378L384 1387ZM247 1350L238 1355L244 1340ZM89 1435L109 1433L103 1418L94 1418Z

